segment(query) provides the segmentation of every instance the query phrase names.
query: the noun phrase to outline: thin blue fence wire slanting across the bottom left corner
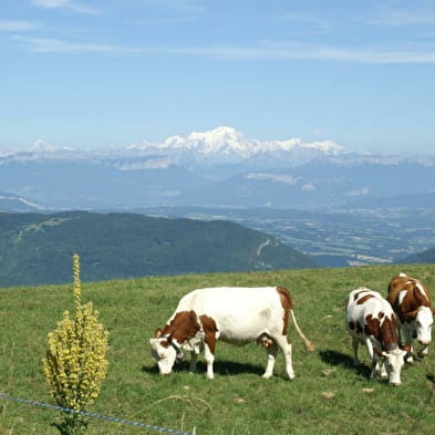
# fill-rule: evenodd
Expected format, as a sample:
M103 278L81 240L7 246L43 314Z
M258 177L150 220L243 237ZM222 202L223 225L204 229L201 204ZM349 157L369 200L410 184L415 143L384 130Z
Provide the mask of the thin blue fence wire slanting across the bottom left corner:
M51 405L49 403L42 403L42 402L30 401L30 400L25 400L25 398L13 397L13 396L10 396L8 394L2 394L2 393L0 393L0 398L11 401L11 402L23 403L25 405L33 405L33 406L42 407L45 410L61 411L61 412L68 413L68 414L77 414L77 415L82 415L82 416L90 417L90 418L105 420L105 421L113 422L113 423L125 424L127 426L142 427L145 429L151 429L151 431L156 431L156 432L165 432L167 434L196 435L196 427L194 427L194 431L191 433L180 432L180 431L160 427L160 426L156 426L156 425L152 425L152 424L147 424L147 423L132 422L132 421L128 421L125 418L112 417L108 415L101 415L101 414L96 414L96 413L89 413L86 411L75 411L75 410L72 410L69 407Z

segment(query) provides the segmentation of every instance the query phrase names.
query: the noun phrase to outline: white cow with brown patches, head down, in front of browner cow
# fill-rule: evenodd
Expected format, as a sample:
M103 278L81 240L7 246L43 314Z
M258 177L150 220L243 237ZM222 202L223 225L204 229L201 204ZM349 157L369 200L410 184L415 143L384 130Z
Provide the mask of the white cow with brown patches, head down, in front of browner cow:
M396 317L390 303L379 292L361 287L348 297L345 321L352 336L354 364L360 364L359 344L365 344L372 362L371 377L380 374L389 377L391 384L400 385L406 352L398 348Z

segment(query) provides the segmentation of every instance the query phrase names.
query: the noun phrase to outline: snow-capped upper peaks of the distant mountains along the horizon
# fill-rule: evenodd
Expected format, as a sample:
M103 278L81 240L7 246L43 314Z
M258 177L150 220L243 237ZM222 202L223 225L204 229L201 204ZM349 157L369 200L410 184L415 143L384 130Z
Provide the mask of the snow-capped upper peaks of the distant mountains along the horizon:
M158 143L144 139L137 144L92 151L59 147L38 139L24 151L2 148L0 149L1 157L14 160L112 160L117 168L123 170L163 168L170 165L195 168L198 164L242 165L251 169L288 168L314 159L329 159L345 164L370 162L382 165L397 165L404 160L413 160L428 166L435 165L435 156L382 156L353 153L332 141L303 142L300 138L259 141L247 138L242 133L228 126L219 126L208 132L191 132L185 137L174 135Z

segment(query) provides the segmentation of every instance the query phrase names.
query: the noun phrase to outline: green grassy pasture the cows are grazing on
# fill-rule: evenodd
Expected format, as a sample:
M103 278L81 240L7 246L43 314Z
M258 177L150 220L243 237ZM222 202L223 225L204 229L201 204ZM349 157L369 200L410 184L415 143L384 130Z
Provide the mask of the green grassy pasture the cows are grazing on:
M367 286L386 293L400 271L435 289L433 266L382 266L346 269L214 273L84 283L82 299L92 300L110 330L110 369L91 412L118 416L197 435L328 435L435 433L435 348L406 366L402 386L370 381L365 365L352 366L344 331L343 302L349 291ZM297 379L284 377L282 354L276 375L263 380L266 352L256 344L218 343L216 379L187 363L160 376L148 339L163 327L178 299L206 286L286 286L304 333L317 350L308 352L290 328ZM73 309L72 286L0 289L0 392L51 403L42 373L46 334L64 310ZM0 435L59 434L58 413L0 400ZM89 434L157 434L111 422L91 421Z

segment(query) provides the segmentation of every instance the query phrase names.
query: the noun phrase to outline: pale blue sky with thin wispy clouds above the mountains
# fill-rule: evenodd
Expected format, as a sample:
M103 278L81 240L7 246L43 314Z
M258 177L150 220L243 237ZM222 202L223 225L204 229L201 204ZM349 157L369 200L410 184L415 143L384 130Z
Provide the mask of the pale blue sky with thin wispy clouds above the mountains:
M435 153L435 2L2 0L0 147L249 138Z

